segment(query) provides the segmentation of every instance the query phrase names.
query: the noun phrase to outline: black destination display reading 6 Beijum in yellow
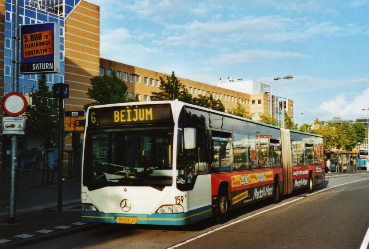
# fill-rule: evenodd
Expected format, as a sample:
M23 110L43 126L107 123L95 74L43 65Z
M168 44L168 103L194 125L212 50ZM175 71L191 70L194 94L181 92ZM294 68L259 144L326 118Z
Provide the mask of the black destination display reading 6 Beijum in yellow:
M172 121L170 105L90 108L88 126L130 125Z

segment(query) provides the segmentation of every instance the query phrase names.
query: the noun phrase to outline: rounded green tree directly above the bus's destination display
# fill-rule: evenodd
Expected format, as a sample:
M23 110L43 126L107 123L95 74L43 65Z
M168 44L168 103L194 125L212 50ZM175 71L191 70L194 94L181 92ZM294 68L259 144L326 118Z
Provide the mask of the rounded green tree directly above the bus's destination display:
M112 71L110 75L94 76L90 81L92 88L87 90L87 95L95 102L86 104L85 111L93 105L138 101L137 97L135 99L129 98L127 84L117 77L115 71Z

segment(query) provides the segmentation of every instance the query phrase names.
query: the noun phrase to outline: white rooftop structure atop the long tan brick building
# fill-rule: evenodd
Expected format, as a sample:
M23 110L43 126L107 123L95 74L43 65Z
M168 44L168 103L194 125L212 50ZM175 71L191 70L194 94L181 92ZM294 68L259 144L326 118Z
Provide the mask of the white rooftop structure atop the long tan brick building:
M258 94L270 92L270 85L258 81L254 81L251 78L230 78L227 80L211 82L211 85L215 85L221 88L230 89L237 92L248 93L248 94Z

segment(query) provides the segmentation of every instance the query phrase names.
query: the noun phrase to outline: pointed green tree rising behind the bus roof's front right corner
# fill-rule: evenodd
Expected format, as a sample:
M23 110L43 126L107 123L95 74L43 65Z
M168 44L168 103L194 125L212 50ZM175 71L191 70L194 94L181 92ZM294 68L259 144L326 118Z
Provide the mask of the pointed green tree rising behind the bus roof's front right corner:
M187 91L178 78L175 76L174 71L171 76L166 76L166 82L162 77L160 79L160 92L151 92L151 100L175 100L183 101L186 103L192 103L192 95Z

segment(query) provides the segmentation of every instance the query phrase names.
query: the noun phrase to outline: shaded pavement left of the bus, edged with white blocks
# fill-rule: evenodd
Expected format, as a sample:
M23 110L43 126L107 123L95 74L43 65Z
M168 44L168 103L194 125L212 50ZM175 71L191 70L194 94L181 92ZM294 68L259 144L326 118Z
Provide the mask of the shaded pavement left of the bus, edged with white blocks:
M8 222L10 174L0 174L2 205L0 210L0 249L27 246L83 231L99 224L80 222L80 178L63 181L62 212L57 211L57 174L54 182L42 183L42 172L17 173L17 209L15 224ZM50 179L51 180L51 177Z

